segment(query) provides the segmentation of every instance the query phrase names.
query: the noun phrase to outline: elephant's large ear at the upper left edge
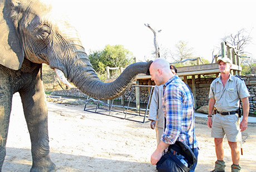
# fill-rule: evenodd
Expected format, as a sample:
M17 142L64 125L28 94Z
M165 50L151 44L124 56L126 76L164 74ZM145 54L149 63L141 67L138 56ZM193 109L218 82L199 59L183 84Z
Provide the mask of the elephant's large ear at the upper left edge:
M18 70L24 60L24 51L10 17L12 6L11 2L0 0L0 64Z

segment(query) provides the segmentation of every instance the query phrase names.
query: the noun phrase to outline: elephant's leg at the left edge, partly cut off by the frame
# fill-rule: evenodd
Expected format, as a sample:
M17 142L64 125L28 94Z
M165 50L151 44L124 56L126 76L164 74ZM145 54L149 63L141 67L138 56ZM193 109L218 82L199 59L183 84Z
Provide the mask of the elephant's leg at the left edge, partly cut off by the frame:
M6 156L6 141L12 108L12 93L6 82L0 80L0 171Z

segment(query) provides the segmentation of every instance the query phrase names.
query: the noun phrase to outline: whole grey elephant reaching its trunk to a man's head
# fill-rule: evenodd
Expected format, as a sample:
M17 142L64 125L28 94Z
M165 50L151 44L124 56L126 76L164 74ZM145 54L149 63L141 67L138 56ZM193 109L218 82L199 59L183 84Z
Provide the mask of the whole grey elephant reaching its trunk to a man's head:
M30 171L56 171L49 155L42 64L50 65L60 78L65 76L89 97L113 99L120 97L137 74L149 75L152 61L130 64L116 80L104 83L97 77L76 29L52 17L45 2L0 0L0 9L0 171L16 92L21 96L31 139Z

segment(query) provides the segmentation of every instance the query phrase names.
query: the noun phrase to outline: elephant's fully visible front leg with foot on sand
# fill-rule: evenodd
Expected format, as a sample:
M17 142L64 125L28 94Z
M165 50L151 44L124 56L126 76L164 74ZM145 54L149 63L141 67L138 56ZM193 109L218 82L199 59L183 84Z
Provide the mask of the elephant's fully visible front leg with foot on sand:
M31 171L56 171L50 159L48 113L43 84L39 76L29 88L19 92L31 138L33 165Z

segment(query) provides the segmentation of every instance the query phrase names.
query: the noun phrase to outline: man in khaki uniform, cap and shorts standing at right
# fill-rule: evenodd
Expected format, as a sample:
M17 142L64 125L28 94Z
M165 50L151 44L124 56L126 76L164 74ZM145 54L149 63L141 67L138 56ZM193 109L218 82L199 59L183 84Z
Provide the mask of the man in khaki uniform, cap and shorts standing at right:
M220 77L213 80L209 93L208 127L211 128L211 136L214 138L217 161L212 172L225 171L223 138L226 135L231 149L232 172L240 171L238 141L241 132L247 129L249 114L250 94L242 78L230 74L232 62L229 58L219 59ZM243 120L240 123L238 115L240 101L243 103ZM214 108L216 114L213 116Z

